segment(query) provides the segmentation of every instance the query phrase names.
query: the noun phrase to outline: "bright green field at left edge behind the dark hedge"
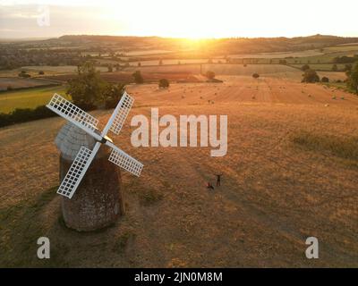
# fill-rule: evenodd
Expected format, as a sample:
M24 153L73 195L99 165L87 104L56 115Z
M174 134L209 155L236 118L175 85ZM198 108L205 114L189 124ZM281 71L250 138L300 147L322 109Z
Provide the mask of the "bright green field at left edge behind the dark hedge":
M55 92L64 94L64 86L29 88L0 93L0 113L8 114L15 108L35 108L46 105Z

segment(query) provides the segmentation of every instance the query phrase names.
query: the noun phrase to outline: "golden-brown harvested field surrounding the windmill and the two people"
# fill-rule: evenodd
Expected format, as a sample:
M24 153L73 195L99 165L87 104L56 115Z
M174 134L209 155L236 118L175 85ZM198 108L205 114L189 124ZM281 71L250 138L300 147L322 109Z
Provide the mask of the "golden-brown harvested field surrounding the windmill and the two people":
M60 215L60 118L0 130L0 265L116 267L358 266L358 97L289 78L217 76L224 83L131 85L120 136L145 165L122 172L125 216L95 233ZM226 156L211 147L131 145L131 118L227 114ZM93 112L103 124L110 112ZM222 186L206 188L214 172ZM51 259L36 257L39 236ZM320 240L307 259L305 240Z

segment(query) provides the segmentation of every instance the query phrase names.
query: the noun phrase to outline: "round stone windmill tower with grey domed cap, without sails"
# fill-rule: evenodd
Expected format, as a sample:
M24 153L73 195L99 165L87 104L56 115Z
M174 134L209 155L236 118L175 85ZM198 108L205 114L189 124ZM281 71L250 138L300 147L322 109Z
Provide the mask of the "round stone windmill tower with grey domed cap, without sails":
M95 139L68 122L58 133L60 181L82 146L92 149ZM121 172L108 161L110 148L102 145L73 197L62 197L62 214L67 227L76 231L96 231L115 223L124 214Z

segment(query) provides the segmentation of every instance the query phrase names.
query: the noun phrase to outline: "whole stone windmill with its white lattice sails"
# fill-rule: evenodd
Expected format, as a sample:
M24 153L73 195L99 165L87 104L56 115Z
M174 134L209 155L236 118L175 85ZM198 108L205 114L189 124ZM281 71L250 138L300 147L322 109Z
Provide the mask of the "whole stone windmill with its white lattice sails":
M132 102L132 97L124 93L102 132L96 118L64 97L55 94L47 105L69 121L58 133L55 145L61 152L62 183L57 193L64 196L64 223L72 229L98 230L124 214L121 176L115 165L139 176L143 164L115 147L107 131L119 133Z

